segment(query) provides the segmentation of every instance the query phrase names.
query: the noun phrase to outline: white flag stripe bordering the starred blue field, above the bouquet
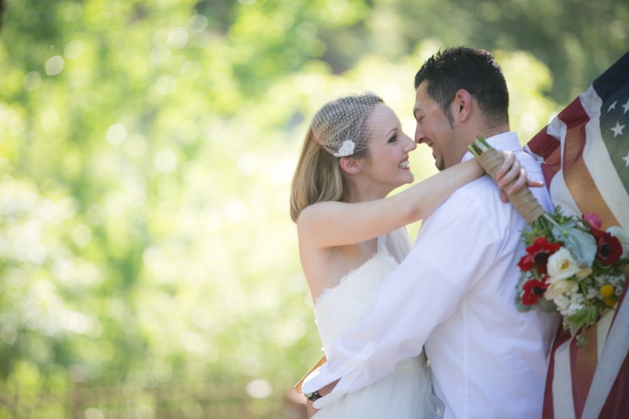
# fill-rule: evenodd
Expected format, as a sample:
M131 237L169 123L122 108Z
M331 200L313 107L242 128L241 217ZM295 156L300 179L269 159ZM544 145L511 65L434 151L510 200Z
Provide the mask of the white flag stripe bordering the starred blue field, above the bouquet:
M600 106L602 100L593 87L579 96L584 110L590 117L586 124L587 141L583 159L588 171L594 179L594 184L600 191L602 198L619 221L622 228L629 230L629 194L620 179L607 147L600 133ZM563 140L562 140L563 144Z

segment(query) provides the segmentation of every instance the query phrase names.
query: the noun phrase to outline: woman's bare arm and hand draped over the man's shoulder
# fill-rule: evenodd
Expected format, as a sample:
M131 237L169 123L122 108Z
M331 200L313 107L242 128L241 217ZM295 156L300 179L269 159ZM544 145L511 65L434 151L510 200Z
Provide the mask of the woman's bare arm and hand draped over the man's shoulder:
M411 186L397 195L364 203L328 201L306 207L297 220L298 235L316 247L334 247L370 240L431 215L464 184L483 175L475 160L465 161ZM511 189L526 184L521 166L506 153L500 169L503 182L518 178ZM500 178L498 178L500 179Z

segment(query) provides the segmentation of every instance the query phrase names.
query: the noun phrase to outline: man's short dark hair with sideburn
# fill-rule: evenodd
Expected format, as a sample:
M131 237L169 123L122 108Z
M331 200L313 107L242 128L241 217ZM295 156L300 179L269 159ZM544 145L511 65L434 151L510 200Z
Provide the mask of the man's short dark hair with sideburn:
M428 82L428 95L441 106L450 125L449 105L458 89L476 98L489 124L509 122L507 82L491 52L470 47L439 51L419 68L415 89L424 81Z

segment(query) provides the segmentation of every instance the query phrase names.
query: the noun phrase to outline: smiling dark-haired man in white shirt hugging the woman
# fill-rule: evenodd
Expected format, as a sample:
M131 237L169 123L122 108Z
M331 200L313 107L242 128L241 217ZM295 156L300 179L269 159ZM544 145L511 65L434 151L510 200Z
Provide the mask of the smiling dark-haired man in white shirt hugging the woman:
M439 170L471 159L467 147L482 135L514 152L529 177L542 179L539 164L509 131L507 85L489 52L438 52L415 76L415 88L415 141L431 147ZM545 188L533 194L552 209ZM515 307L525 227L489 176L458 189L424 221L414 248L384 281L373 314L338 339L304 394L317 399L321 390L319 409L384 378L425 347L445 418L539 418L558 323Z

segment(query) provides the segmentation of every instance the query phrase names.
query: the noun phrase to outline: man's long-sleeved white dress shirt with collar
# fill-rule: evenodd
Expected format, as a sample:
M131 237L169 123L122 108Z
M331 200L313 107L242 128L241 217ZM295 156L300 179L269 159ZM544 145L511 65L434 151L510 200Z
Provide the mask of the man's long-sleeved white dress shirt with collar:
M487 139L516 154L528 176L540 166L516 133ZM463 161L471 159L469 152ZM533 188L552 210L545 188ZM425 345L445 418L538 418L557 318L517 311L516 266L526 223L485 175L462 186L426 219L414 248L384 281L373 314L338 339L328 362L303 385L312 392L341 378L321 408L393 372Z

